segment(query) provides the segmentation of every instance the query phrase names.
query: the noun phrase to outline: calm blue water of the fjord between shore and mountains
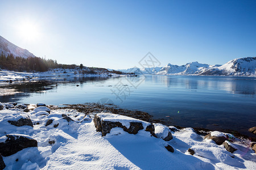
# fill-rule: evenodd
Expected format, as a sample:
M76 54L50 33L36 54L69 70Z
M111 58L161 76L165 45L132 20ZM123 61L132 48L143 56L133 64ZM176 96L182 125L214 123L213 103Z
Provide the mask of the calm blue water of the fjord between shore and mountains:
M255 77L148 75L52 80L57 84L48 86L52 90L35 92L28 86L17 87L24 93L0 96L0 101L61 105L110 99L121 108L145 111L174 125L233 129L245 134L256 126Z

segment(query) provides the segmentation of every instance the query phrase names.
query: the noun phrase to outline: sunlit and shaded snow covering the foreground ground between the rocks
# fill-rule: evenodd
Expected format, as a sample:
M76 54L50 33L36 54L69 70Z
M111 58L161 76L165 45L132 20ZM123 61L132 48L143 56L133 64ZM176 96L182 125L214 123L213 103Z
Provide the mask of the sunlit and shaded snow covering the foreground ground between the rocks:
M155 138L149 131L129 134L122 128L113 128L102 137L94 126L96 113L85 116L75 110L59 109L49 114L44 107L26 113L11 104L2 106L0 143L5 141L6 134L24 134L38 141L38 147L24 148L3 157L5 169L256 169L256 154L249 147L250 141L231 134L225 135L237 148L233 154L212 139L196 134L192 128L171 131L171 141ZM104 121L119 121L123 126L129 126L129 121L141 122L110 113L98 116ZM14 126L8 122L27 117L34 127ZM46 126L48 120L52 123ZM148 125L144 121L142 124ZM161 124L154 126L164 137L165 130L170 131ZM221 137L224 133L214 131L212 135ZM167 145L172 146L174 152L168 151ZM189 148L195 151L194 155L188 153Z

